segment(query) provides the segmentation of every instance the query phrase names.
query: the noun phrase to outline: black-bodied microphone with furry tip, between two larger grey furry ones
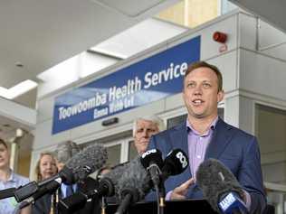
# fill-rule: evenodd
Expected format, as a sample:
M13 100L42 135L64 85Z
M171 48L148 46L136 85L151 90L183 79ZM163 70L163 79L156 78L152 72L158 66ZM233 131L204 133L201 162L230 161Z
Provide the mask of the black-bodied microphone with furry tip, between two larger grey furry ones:
M82 209L87 200L98 201L100 197L111 197L115 193L115 185L119 181L122 173L127 168L127 163L121 163L118 166L101 176L99 186L96 189L88 190L86 192L75 192L73 195L59 201L59 209L62 213L71 213L72 211Z

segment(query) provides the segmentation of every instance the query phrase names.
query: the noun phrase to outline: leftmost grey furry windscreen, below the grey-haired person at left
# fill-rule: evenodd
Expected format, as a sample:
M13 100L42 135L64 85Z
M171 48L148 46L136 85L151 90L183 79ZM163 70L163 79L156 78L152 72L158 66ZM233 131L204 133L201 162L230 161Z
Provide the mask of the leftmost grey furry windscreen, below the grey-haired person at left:
M73 174L73 178L66 178L66 182L74 183L85 179L90 173L100 169L107 159L107 150L103 145L92 144L87 146L65 164L64 168L68 168Z

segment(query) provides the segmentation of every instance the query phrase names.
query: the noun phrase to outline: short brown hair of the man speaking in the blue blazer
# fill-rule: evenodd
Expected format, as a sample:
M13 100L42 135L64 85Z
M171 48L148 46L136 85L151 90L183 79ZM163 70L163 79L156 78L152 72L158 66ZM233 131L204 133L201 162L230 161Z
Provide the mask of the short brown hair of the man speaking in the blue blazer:
M215 65L211 65L203 60L201 61L195 61L194 63L189 64L189 66L187 67L186 73L185 73L185 78L184 81L186 79L186 76L192 72L195 69L198 68L209 68L211 70L214 70L215 75L217 77L217 86L218 86L218 91L223 90L223 75L221 73L221 71L215 66Z

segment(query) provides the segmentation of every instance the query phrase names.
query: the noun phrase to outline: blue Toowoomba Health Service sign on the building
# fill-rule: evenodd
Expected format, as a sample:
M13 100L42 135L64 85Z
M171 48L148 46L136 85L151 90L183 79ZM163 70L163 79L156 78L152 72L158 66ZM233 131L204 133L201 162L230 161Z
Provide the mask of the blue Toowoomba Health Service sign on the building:
M197 36L55 98L52 134L181 92L187 65L200 60L200 44Z

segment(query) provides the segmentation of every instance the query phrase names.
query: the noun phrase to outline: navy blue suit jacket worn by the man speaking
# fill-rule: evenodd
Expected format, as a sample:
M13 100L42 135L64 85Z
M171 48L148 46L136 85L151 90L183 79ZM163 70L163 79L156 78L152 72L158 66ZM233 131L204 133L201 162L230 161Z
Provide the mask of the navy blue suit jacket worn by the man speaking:
M152 148L159 149L163 154L163 158L176 148L180 148L188 154L186 122L153 135L148 145L148 149ZM262 213L266 198L262 188L260 151L256 138L219 119L212 140L206 149L205 159L208 158L221 161L234 173L243 189L251 195L251 211L253 213ZM189 167L185 172L171 176L165 182L166 192L174 190L191 177L193 175ZM148 195L147 200L155 200L156 198L153 197ZM193 185L189 188L186 198L201 199L203 195L199 188Z

